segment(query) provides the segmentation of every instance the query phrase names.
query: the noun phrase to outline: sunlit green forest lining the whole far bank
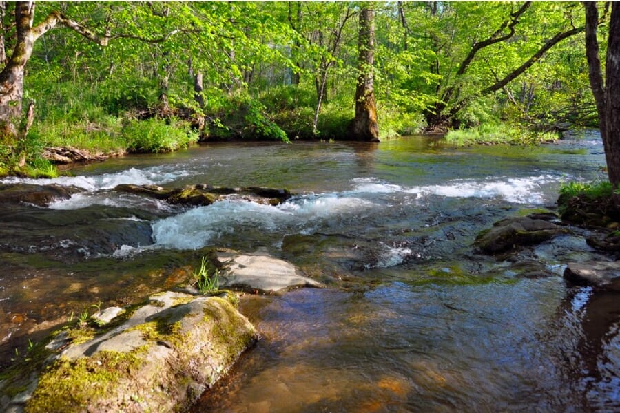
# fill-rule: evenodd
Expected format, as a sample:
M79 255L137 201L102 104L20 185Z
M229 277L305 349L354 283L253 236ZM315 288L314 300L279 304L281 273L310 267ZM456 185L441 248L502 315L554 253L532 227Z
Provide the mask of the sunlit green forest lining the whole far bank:
M347 139L360 79L373 83L381 138L597 124L577 2L1 5L5 167L62 145L105 153L196 139ZM607 19L601 7L601 32ZM167 128L179 139L161 142ZM136 142L145 135L157 145Z

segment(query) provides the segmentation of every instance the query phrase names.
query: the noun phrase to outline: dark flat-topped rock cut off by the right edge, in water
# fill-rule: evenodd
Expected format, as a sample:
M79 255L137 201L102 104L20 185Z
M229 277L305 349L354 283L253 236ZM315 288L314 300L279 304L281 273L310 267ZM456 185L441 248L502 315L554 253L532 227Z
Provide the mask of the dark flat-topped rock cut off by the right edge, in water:
M620 261L571 262L564 270L564 278L578 285L620 291Z

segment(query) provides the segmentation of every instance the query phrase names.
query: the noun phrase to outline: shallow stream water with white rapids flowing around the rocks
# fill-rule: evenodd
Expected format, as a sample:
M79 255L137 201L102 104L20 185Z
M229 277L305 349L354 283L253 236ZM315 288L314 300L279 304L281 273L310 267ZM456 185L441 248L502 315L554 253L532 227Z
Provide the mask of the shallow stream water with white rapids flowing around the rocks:
M271 253L328 288L243 297L262 340L195 412L617 410L620 297L561 277L568 262L610 257L579 229L502 257L471 246L603 165L588 135L535 149L217 144L75 167L36 181L82 189L69 200L1 207L2 354L71 311L174 285L200 248L220 246ZM297 195L171 207L112 191L121 183Z

